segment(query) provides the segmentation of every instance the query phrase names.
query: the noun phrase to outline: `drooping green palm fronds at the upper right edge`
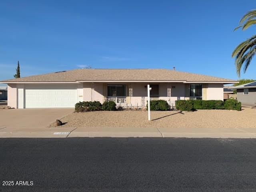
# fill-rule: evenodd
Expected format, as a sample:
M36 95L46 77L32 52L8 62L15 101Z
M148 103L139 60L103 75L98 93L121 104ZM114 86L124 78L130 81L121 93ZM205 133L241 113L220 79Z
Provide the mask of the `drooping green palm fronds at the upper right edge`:
M246 30L250 26L255 24L256 24L256 10L251 10L242 17L242 19L240 20L240 26L235 28L235 30L239 28L242 28L242 30ZM242 66L244 66L244 73L245 73L255 54L256 54L256 35L242 42L235 48L234 52L232 53L232 58L236 57L236 61L235 61L236 73L238 74L239 77L240 77L240 71Z

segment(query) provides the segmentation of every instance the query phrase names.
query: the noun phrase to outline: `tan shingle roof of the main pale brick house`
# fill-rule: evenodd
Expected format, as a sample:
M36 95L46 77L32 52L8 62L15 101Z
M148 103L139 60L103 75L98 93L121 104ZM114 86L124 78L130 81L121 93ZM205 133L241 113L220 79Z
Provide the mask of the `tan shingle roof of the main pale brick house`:
M1 82L76 82L77 80L116 81L197 81L234 82L234 80L166 69L77 69Z

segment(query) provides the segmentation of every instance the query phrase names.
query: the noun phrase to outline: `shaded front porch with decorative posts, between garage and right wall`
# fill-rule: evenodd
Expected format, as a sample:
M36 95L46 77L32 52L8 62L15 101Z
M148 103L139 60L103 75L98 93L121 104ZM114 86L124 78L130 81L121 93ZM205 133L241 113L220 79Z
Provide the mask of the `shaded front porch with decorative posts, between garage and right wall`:
M170 107L176 100L203 99L203 86L190 88L189 84L172 83L84 83L84 101L114 101L117 106L144 108L147 104L147 84L151 100L166 100ZM192 91L190 91L192 90ZM191 96L190 96L191 95Z

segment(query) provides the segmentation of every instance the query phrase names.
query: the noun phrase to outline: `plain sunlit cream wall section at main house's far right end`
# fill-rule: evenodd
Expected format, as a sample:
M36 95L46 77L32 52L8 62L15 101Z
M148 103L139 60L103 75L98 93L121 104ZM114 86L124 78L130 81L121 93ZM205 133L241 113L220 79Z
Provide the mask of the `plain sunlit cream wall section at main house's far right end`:
M207 88L206 100L222 100L223 96L223 84L221 83L209 83Z

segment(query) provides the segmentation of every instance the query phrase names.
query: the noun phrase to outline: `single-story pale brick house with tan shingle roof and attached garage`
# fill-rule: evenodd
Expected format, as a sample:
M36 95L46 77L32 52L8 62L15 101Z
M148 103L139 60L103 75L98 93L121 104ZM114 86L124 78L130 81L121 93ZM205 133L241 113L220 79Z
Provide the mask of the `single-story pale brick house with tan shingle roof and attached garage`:
M8 106L73 108L79 101L112 100L121 106L145 107L151 99L223 100L223 84L238 81L164 69L78 69L29 76L8 84Z

